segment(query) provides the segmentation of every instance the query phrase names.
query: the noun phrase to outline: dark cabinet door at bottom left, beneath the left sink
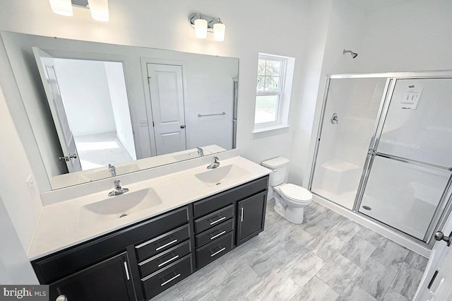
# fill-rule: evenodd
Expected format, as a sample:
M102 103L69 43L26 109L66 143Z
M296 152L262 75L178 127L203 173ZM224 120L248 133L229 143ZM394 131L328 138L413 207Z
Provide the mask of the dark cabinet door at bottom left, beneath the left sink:
M50 285L50 299L67 301L136 300L126 252L85 268Z

